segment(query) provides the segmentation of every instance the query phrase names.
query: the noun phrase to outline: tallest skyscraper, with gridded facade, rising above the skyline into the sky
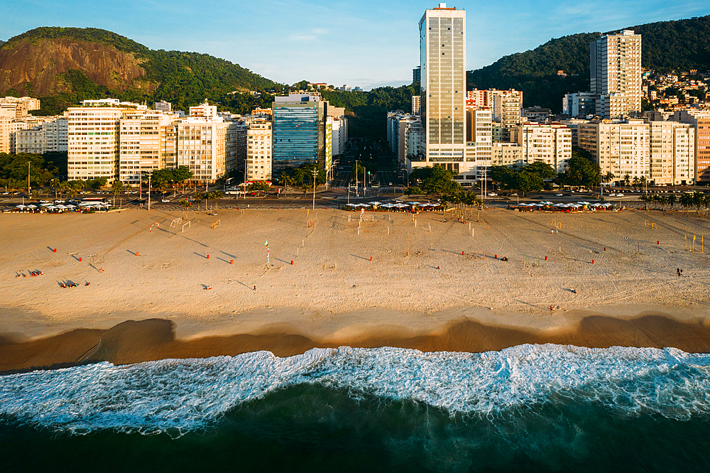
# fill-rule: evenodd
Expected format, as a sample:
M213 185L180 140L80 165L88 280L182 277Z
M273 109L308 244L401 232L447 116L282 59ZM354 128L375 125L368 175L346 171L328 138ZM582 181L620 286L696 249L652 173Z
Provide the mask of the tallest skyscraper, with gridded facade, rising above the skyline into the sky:
M466 152L466 12L439 4L419 22L426 161L459 172Z

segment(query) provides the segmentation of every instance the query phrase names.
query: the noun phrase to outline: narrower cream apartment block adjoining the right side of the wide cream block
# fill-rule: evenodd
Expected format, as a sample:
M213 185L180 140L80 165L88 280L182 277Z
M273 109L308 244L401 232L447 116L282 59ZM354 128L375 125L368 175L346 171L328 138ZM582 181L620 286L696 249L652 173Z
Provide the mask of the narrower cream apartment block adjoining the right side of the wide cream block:
M687 185L695 180L695 128L677 121L648 121L650 178L655 185Z

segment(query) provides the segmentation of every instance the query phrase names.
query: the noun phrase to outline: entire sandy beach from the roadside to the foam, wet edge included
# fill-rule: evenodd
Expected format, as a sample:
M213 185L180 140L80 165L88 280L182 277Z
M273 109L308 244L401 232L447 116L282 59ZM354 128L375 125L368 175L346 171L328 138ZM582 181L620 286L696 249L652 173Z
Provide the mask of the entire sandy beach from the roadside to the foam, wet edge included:
M89 359L121 363L338 344L710 344L710 228L691 212L218 213L2 214L0 371L75 362L102 335L114 352ZM148 319L129 348L121 322Z

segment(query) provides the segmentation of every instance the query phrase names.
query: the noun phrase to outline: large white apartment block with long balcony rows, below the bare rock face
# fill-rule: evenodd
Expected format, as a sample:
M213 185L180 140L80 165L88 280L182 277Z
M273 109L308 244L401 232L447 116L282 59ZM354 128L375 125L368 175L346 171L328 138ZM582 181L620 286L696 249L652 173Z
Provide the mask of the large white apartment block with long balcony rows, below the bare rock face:
M145 105L118 99L84 100L68 110L67 168L69 180L119 178L121 119Z

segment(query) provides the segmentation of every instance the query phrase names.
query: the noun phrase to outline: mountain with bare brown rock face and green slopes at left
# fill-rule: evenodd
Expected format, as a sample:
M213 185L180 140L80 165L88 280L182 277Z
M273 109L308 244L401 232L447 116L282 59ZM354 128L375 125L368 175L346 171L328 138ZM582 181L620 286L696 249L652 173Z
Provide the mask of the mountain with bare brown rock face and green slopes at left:
M0 94L40 97L43 109L103 97L164 99L185 109L205 98L217 102L233 91L277 86L227 60L151 50L98 28L35 28L0 45Z

